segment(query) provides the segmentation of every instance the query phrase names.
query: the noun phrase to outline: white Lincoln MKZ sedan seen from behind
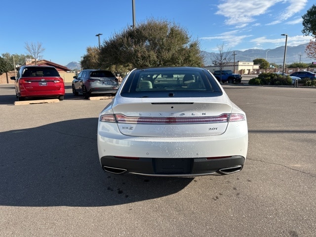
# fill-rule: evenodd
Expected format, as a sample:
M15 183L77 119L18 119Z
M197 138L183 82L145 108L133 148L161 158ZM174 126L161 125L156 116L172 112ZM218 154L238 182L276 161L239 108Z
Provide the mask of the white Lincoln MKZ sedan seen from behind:
M105 171L198 176L240 171L248 148L245 113L202 68L131 71L99 115Z

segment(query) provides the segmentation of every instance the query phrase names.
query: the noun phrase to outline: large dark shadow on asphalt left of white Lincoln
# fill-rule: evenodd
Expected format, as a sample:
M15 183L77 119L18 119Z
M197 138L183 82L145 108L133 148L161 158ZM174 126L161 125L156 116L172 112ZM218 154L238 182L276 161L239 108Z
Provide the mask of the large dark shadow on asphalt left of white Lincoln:
M73 119L1 132L0 205L119 205L175 194L194 179L104 172L97 122Z

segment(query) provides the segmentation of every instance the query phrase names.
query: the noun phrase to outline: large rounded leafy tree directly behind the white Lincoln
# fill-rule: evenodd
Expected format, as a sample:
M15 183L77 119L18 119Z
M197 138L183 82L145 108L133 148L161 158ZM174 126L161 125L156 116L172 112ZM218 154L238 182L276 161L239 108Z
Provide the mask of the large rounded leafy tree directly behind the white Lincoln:
M101 46L102 68L144 68L203 65L199 42L181 26L149 19L115 33Z

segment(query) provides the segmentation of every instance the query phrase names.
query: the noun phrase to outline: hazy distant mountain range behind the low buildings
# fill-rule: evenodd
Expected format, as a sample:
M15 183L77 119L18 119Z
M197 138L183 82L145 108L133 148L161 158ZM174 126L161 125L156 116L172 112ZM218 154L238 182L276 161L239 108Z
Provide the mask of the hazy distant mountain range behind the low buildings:
M291 63L311 63L316 60L308 58L305 53L305 48L308 43L300 44L297 46L287 46L286 47L286 64ZM232 54L235 52L235 61L242 62L252 62L256 58L267 59L269 63L283 64L284 60L284 46L280 46L274 49L247 49L245 51L232 50ZM216 53L203 51L205 56L204 65L213 65L212 61ZM234 56L232 56L232 62L234 61Z

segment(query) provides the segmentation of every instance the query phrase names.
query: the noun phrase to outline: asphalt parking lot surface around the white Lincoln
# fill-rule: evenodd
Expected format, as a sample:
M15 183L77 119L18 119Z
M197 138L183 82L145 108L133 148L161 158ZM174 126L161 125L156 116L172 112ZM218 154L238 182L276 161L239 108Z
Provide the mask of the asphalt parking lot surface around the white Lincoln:
M158 178L102 171L97 117L110 100L71 86L58 103L14 105L0 85L0 237L311 237L316 89L223 86L246 112L244 168Z

